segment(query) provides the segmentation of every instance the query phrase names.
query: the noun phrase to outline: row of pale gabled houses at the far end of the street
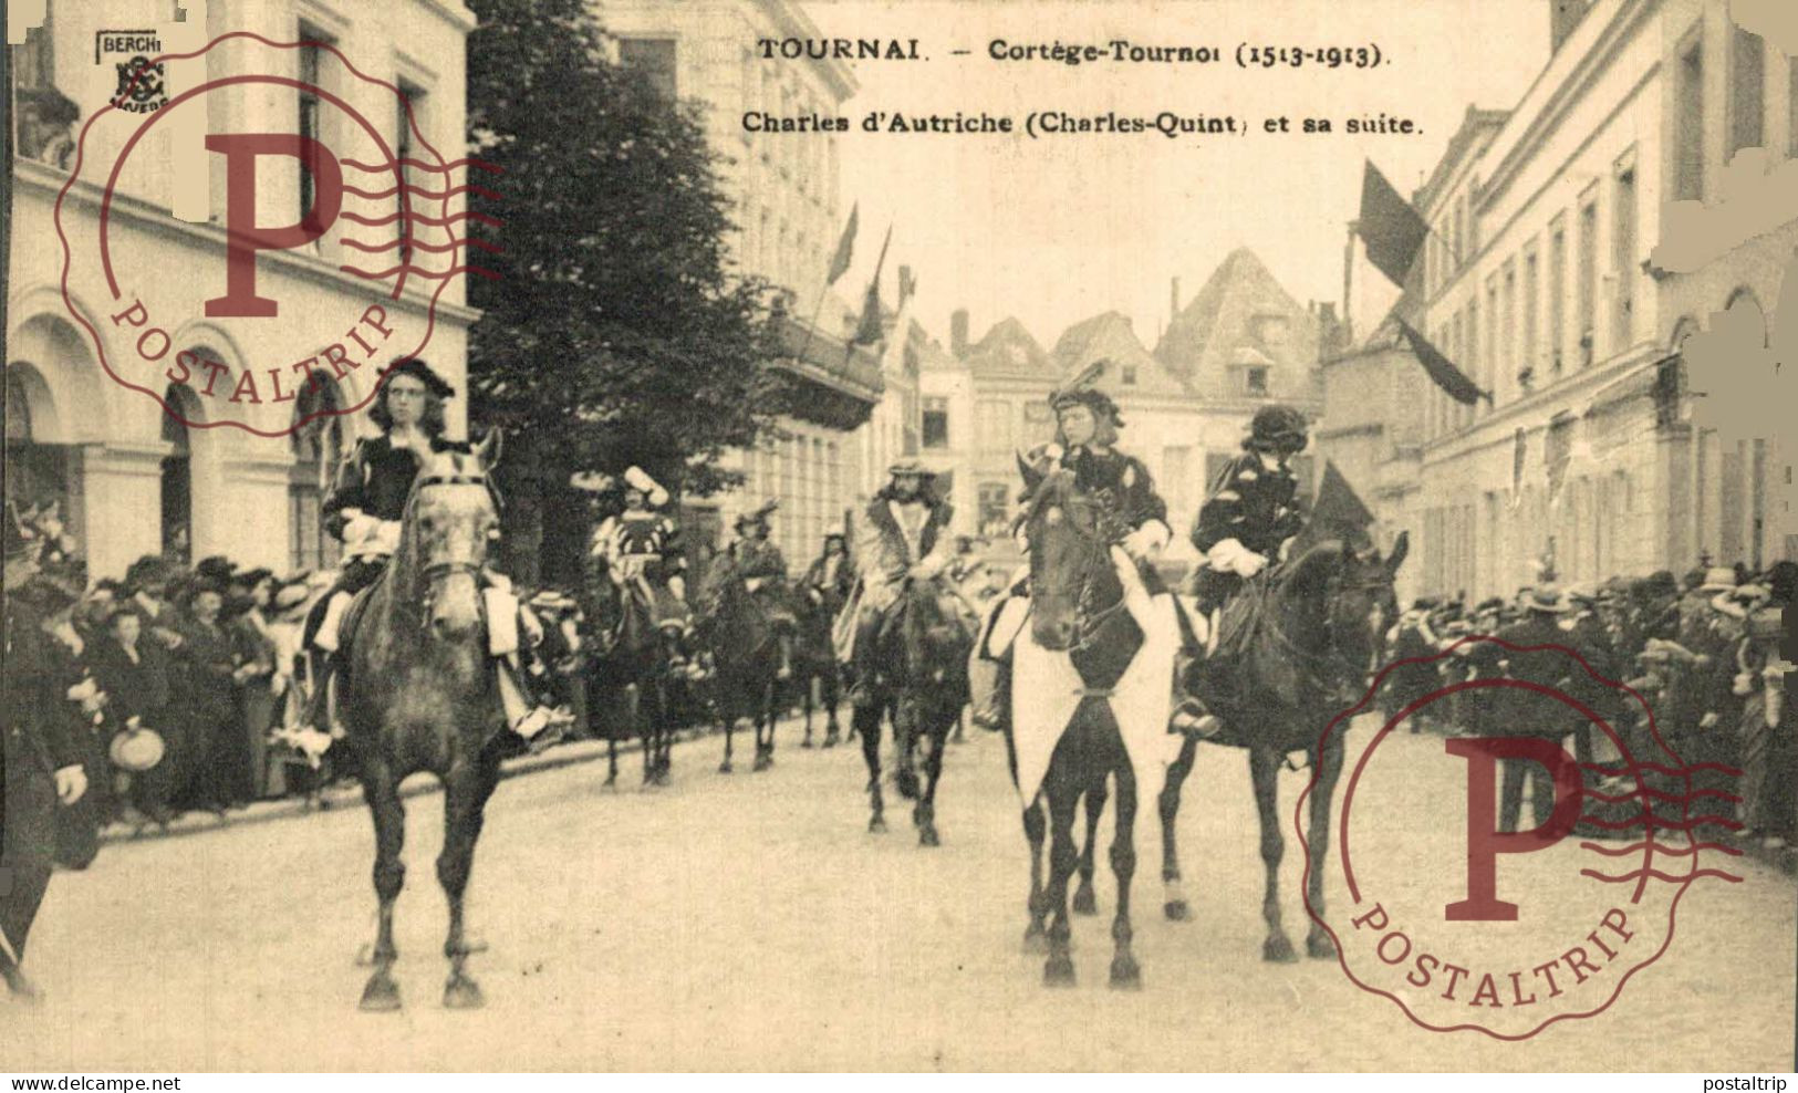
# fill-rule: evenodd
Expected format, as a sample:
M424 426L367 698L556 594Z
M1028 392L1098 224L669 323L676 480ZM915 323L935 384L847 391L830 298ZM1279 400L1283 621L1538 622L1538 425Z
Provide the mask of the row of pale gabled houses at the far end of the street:
M1190 561L1187 532L1221 466L1241 451L1255 410L1322 408L1320 345L1334 336L1331 307L1295 300L1250 250L1232 252L1179 307L1151 352L1127 316L1108 311L1070 325L1052 351L1016 318L967 342L953 318L949 354L921 376L921 442L955 480L957 532L1001 538L1016 514L1016 455L1054 439L1048 395L1088 365L1109 360L1100 387L1124 419L1120 448L1144 460L1163 500L1170 561ZM1313 458L1300 457L1311 480Z

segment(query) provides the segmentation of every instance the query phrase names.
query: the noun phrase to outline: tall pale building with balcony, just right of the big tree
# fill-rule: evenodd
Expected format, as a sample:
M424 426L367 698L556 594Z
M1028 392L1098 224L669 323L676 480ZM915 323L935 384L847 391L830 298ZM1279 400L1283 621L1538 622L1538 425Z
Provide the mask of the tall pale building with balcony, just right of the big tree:
M791 0L595 0L593 9L622 65L701 106L707 137L726 160L735 268L786 295L788 356L775 367L797 385L793 412L762 446L726 460L744 475L741 489L683 505L687 525L696 538L728 539L737 514L775 500L773 539L789 564L802 564L865 496L863 430L881 404L883 363L847 343L852 309L825 286L847 216L838 137L752 133L743 117L836 113L856 92L854 76L836 59L755 54L757 38L820 36ZM858 243L867 246L867 237Z

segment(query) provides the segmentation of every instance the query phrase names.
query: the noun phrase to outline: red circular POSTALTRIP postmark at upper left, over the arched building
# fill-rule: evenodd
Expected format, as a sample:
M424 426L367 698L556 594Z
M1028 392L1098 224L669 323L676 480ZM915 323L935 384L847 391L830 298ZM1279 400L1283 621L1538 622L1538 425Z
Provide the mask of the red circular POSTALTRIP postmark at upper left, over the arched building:
M444 160L401 88L325 41L239 31L137 77L169 61L203 76L147 115L120 79L81 126L56 200L68 313L115 383L191 428L282 437L361 410L451 284L498 277L464 259L496 250L469 221L502 223L467 198L498 194L457 183L498 167ZM174 214L194 171L203 223Z

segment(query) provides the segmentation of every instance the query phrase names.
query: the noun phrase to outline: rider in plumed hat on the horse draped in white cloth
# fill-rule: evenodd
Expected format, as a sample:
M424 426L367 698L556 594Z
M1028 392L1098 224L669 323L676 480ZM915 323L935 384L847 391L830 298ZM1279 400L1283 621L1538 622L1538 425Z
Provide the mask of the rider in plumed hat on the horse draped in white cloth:
M1117 403L1091 387L1111 361L1090 365L1068 387L1050 395L1055 413L1055 440L1041 444L1025 455L1032 466L1061 466L1073 471L1081 493L1095 498L1104 514L1099 527L1111 539L1111 559L1126 588L1140 584L1149 595L1165 591L1153 559L1169 539L1167 502L1154 489L1149 467L1133 455L1117 449ZM1000 728L1010 708L1010 642L1023 624L1027 604L1025 579L1028 563L1010 595L989 615L976 645L976 662L996 663L996 671L975 671L975 724ZM1003 651L994 647L1003 644ZM1179 696L1176 696L1178 701Z

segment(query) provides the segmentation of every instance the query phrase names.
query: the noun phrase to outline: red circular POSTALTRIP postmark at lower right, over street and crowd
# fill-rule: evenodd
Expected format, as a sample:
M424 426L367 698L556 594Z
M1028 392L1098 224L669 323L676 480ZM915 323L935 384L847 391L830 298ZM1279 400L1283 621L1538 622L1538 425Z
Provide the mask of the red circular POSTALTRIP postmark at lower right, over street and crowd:
M1564 658L1568 687L1465 680L1411 701L1365 741L1350 737L1338 845L1323 858L1323 868L1340 868L1325 875L1340 892L1322 913L1307 899L1307 911L1336 940L1343 973L1417 1025L1527 1039L1609 1009L1672 946L1679 899L1694 881L1740 879L1715 868L1737 850L1705 838L1735 827L1735 798L1712 782L1739 771L1683 762L1647 699L1593 672L1573 649L1492 636L1386 665L1325 732L1347 732L1393 669L1482 642ZM1411 717L1440 712L1455 696L1464 706L1501 705L1487 706L1478 735L1462 724L1453 732L1467 735L1390 746ZM1595 705L1627 710L1636 723L1613 724ZM1568 751L1566 737L1582 726L1600 760ZM1510 831L1501 829L1507 777L1535 784L1530 802L1512 802ZM1313 866L1305 845L1307 875Z

